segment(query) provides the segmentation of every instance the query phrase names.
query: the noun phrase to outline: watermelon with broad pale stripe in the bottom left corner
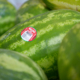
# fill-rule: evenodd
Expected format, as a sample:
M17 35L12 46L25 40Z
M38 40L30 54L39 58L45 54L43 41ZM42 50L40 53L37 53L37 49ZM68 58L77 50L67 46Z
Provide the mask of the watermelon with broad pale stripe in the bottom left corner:
M47 77L30 58L0 49L0 80L47 80Z

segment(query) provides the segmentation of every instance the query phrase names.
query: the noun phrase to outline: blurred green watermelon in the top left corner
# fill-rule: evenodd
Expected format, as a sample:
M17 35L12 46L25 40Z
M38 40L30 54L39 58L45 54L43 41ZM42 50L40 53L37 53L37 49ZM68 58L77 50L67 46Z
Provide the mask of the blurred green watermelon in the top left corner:
M0 36L15 25L16 9L6 0L0 0Z

